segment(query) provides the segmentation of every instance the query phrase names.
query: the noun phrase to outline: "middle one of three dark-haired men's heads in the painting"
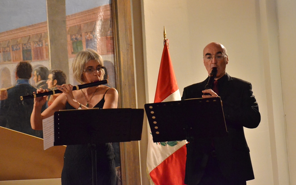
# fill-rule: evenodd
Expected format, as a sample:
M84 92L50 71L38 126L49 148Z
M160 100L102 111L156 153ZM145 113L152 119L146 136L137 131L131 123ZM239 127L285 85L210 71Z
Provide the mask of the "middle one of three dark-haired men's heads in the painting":
M49 70L44 66L39 66L34 70L34 81L37 89L48 89L46 80L49 75Z

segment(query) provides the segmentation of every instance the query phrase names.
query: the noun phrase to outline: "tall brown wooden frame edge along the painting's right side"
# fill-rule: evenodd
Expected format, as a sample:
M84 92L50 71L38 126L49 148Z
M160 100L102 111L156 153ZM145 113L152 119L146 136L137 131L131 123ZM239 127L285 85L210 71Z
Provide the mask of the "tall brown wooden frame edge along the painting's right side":
M119 108L136 108L130 1L112 0L112 13ZM141 184L139 141L120 143L120 161L122 184Z

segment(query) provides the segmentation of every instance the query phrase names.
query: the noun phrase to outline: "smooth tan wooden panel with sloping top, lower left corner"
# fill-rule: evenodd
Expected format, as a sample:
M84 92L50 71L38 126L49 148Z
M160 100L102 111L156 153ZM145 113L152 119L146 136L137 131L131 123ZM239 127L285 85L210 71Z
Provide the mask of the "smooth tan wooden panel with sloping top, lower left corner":
M0 127L0 181L61 178L66 146Z

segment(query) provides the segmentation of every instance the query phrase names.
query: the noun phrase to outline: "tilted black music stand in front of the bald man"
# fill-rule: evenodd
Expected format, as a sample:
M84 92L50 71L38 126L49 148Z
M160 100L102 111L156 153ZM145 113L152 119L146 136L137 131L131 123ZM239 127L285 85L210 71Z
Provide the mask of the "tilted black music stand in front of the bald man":
M153 142L189 142L199 138L214 138L227 135L221 98L194 98L145 104ZM187 151L190 145L187 145ZM191 154L187 153L187 164ZM190 167L188 169L191 169ZM190 184L189 173L187 173Z

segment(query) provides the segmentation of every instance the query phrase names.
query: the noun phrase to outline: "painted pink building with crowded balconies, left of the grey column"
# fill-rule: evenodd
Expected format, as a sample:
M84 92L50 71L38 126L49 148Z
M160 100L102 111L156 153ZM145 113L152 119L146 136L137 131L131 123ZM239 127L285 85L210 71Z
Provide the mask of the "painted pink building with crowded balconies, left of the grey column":
M30 27L35 29L46 28L46 22L30 25ZM0 33L0 73L3 72L3 68L8 68L10 76L15 76L15 68L20 61L28 61L32 66L43 65L49 68L47 30L41 30L41 33L38 34L30 34L28 31L23 31L24 29L26 27ZM11 34L14 32L15 34ZM10 39L7 35L14 38ZM7 83L4 84L4 81L11 81L11 84L15 84L15 78L10 78L10 76L1 75L1 89L10 87L5 85Z

